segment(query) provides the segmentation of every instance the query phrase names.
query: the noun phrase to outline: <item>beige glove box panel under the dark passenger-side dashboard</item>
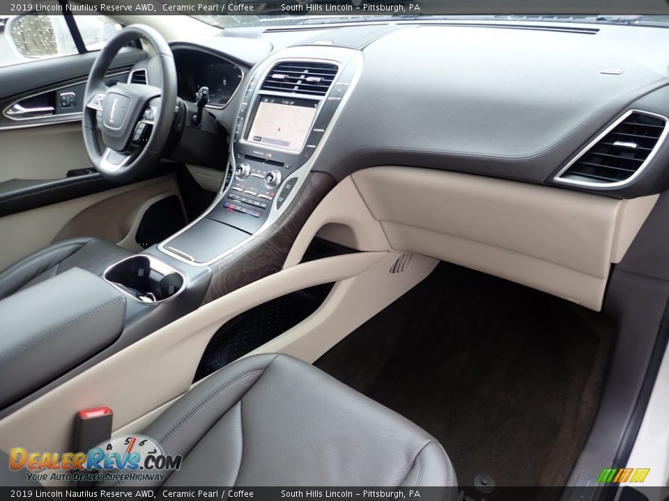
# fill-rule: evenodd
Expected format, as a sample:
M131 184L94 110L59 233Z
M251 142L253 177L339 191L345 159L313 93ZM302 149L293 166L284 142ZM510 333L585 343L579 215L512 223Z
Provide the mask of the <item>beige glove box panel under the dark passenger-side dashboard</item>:
M383 166L352 175L394 249L484 271L600 310L657 196L617 200L442 170Z

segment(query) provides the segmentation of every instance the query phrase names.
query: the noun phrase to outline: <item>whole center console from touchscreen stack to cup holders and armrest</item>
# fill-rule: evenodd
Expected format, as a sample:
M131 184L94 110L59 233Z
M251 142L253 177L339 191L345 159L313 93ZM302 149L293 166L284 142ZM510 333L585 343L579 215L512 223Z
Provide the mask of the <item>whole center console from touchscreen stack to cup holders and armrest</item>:
M33 378L0 388L0 418L203 303L279 271L307 218L336 184L311 170L361 69L360 51L342 47L290 47L270 56L240 88L231 150L222 152L229 177L202 216L158 246L110 264L102 280L71 271L22 293L25 303L53 296L54 313L34 319L25 339L0 347L1 358L17 343L40 342L21 359L39 367ZM3 305L8 319L30 318ZM95 315L82 316L89 311ZM54 322L67 328L43 342ZM45 362L72 342L79 348Z

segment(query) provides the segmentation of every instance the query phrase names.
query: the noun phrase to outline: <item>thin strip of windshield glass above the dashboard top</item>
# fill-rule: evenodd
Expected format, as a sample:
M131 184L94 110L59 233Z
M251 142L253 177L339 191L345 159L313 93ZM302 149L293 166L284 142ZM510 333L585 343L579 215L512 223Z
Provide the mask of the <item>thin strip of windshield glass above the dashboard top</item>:
M250 2L249 2L250 3ZM352 3L355 5L356 0ZM323 4L319 5L323 8ZM341 8L340 4L339 8ZM364 4L367 5L367 4ZM225 6L224 6L225 7ZM295 8L297 7L297 8ZM392 8L405 7L401 4L391 4L385 6L388 10ZM222 15L192 15L207 24L218 26L220 28L231 28L236 26L305 26L310 24L344 24L354 22L410 22L420 19L422 21L521 21L521 22L573 22L573 23L607 23L607 24L626 24L638 26L669 26L669 15L516 15L516 14L498 14L498 15L426 15L416 14L383 14L383 15L299 15L305 11L305 5L302 3L286 4L279 3L258 3L259 14L256 15L236 15L226 13ZM291 12L298 12L298 15L291 15Z

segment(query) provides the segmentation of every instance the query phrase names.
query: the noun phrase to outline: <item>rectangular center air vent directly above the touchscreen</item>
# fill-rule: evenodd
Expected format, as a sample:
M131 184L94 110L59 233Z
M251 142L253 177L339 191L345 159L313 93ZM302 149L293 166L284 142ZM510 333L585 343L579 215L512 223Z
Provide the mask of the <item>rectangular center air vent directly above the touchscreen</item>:
M278 63L267 74L261 90L323 96L337 76L337 66L328 63L289 61Z

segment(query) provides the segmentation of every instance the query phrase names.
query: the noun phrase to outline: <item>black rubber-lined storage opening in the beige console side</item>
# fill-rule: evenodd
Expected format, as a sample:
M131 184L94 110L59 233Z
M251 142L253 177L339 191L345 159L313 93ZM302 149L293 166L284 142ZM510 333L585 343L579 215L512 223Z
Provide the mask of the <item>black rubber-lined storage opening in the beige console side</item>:
M194 381L208 376L299 324L318 309L330 289L332 284L325 284L286 294L228 321L216 331L207 345Z

